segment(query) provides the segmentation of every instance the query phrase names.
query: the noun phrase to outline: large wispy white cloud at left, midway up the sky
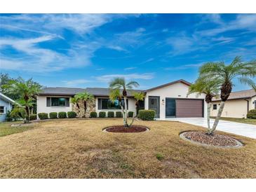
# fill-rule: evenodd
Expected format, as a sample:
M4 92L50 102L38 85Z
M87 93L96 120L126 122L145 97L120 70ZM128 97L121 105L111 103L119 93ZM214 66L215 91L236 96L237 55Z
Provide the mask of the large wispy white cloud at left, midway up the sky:
M0 53L0 69L42 73L90 64L90 57L96 48L95 45L91 45L90 49L71 48L67 50L66 54L47 48L39 48L38 43L53 41L54 39L55 36L40 36L31 39L0 39L0 50L6 46L11 46L14 50L22 53L16 55Z

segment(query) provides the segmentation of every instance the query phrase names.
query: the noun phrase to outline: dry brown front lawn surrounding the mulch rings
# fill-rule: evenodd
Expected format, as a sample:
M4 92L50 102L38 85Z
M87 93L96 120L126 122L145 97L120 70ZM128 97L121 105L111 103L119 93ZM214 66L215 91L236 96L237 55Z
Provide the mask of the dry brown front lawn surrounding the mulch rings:
M0 177L256 178L256 139L231 135L245 146L207 148L179 137L184 130L203 128L170 121L135 122L149 132L102 132L121 123L108 118L46 121L0 137Z

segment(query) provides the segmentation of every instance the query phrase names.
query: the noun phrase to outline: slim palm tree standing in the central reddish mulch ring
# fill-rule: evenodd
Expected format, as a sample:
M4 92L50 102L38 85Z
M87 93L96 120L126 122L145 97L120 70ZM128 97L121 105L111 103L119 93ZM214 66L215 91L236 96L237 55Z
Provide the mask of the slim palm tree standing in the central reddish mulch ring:
M123 125L124 127L128 128L130 125L128 125L127 118L128 118L128 112L127 112L127 91L131 90L133 88L137 88L139 86L139 83L136 81L130 81L126 83L125 78L114 78L109 83L110 88L110 95L109 97L111 100L116 100L116 98L119 98L119 104L121 105L121 98L123 97L124 100L124 109L121 105L121 109L123 112ZM120 92L121 91L121 92Z

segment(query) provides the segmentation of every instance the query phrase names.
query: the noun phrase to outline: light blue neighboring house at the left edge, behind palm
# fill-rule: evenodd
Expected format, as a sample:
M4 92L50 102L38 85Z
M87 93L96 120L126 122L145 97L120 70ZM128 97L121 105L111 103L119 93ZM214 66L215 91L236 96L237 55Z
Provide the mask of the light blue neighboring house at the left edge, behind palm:
M6 120L6 113L13 109L14 104L17 103L0 92L0 122Z

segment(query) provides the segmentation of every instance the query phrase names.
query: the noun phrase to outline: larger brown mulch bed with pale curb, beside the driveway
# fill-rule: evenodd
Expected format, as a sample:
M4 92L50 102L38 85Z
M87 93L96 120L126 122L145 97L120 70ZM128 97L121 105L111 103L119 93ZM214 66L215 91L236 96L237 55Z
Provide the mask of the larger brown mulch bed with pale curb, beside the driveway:
M206 132L202 131L187 131L182 132L180 137L194 144L200 144L203 146L214 146L220 148L239 148L243 146L238 140L215 133L213 136L206 135Z

